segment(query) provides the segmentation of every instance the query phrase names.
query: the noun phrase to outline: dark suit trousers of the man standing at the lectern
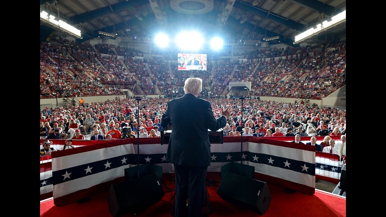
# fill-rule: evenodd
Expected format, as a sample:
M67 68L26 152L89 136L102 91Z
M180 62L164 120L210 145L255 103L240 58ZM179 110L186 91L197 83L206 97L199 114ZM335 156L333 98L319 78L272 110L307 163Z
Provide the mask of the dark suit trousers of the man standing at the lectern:
M175 217L201 217L205 196L205 179L208 166L182 166L174 164L176 175ZM188 208L186 198L189 195Z

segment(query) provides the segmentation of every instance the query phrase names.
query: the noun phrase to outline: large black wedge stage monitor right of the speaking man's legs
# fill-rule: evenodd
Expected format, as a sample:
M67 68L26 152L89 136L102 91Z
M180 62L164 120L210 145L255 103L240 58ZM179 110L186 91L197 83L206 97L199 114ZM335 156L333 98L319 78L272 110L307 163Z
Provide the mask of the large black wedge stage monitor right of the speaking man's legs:
M261 214L267 211L271 203L271 193L266 182L229 172L221 180L217 194L227 202Z

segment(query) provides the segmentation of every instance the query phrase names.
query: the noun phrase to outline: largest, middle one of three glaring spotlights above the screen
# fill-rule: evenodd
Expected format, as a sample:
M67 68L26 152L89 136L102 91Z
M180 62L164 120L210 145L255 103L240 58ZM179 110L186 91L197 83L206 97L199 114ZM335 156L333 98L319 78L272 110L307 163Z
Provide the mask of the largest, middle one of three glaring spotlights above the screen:
M199 32L181 32L176 37L179 49L199 50L204 43L204 38Z

